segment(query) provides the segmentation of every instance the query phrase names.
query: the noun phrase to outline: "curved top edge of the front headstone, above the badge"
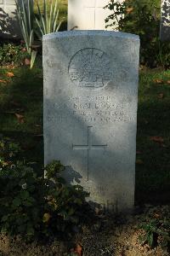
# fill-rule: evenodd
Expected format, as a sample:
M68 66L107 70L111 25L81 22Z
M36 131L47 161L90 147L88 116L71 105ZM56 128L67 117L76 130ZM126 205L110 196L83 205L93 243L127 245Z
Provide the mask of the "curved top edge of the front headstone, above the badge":
M69 37L79 37L79 36L103 36L112 38L127 38L135 41L139 41L139 36L126 33L126 32L114 32L105 30L75 30L75 31L65 31L65 32L54 32L42 37L42 41L51 40L54 38L69 38Z

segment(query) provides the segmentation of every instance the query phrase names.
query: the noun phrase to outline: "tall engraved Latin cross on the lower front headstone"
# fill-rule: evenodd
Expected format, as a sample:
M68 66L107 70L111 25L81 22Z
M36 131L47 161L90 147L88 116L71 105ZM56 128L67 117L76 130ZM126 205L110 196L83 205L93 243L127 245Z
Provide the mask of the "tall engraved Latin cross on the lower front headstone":
M93 128L93 126L88 126L88 140L87 140L87 144L86 145L72 145L73 150L87 150L88 152L88 157L87 157L87 171L88 171L88 177L89 177L89 153L91 150L105 150L105 148L107 147L107 144L105 145L94 145L91 143L91 129Z

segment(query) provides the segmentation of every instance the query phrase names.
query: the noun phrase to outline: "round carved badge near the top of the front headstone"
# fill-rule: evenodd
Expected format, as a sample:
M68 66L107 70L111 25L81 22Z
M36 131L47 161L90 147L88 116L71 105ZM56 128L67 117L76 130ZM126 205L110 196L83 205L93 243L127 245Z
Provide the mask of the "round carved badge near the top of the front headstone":
M69 75L80 87L103 87L111 81L109 57L100 49L81 49L71 58Z

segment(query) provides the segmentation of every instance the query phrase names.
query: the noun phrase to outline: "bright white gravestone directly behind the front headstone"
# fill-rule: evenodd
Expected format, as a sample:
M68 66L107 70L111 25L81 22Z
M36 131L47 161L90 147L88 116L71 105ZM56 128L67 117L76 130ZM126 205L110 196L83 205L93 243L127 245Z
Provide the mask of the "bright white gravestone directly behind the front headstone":
M123 0L120 0L121 2ZM105 30L105 19L111 15L104 9L109 0L69 0L68 30ZM109 28L111 30L111 28Z

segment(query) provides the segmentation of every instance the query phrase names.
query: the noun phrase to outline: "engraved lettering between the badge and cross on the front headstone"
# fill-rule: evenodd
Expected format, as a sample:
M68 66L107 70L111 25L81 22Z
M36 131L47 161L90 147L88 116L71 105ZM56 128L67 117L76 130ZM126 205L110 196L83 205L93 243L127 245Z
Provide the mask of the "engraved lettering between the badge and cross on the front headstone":
M128 105L126 101L113 102L111 96L70 96L66 103L54 103L56 116L52 118L49 114L48 120L58 123L74 120L89 126L131 122L135 117L126 111L132 102L130 97L128 102Z

